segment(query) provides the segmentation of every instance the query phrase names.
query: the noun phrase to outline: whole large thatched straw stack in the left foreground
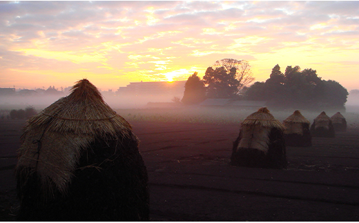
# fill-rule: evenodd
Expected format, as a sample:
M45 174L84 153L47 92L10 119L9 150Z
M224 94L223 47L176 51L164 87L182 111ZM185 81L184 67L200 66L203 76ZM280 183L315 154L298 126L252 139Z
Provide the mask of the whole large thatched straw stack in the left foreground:
M138 143L97 88L78 81L24 128L17 220L148 220L148 176Z

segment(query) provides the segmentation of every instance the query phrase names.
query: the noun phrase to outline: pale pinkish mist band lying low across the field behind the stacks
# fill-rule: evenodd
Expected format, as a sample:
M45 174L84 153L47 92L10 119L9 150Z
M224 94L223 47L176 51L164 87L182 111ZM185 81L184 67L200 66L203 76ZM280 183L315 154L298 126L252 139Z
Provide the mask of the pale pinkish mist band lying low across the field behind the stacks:
M33 106L37 112L50 106L60 97L66 95L41 95L25 97L0 97L0 115L6 117L12 109L25 109ZM189 123L215 123L215 124L240 124L248 115L258 108L239 108L224 106L184 106L175 104L173 97L182 98L182 95L156 95L156 96L115 96L103 94L106 103L122 115L128 122L189 122ZM148 103L153 102L153 103ZM280 122L286 119L298 108L277 109L267 106L274 117ZM349 95L346 110L340 110L347 119L348 128L359 127L359 95ZM322 110L302 110L302 115L310 122L322 112ZM324 110L329 117L339 110Z

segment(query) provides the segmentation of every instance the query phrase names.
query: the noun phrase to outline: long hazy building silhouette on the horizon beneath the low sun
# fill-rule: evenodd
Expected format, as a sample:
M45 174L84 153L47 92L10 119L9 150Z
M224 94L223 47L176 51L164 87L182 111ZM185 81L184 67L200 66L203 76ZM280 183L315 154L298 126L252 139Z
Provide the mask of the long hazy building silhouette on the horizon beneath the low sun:
M186 81L148 81L148 82L130 82L126 87L120 87L117 95L171 95L183 96L184 84Z

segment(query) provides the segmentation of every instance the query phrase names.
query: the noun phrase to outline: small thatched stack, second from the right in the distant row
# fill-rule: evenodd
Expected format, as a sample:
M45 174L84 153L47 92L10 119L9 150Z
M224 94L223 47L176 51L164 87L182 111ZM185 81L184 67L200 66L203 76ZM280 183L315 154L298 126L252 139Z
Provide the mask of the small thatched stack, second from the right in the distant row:
M330 117L324 113L320 113L311 124L312 137L335 137L333 124Z

